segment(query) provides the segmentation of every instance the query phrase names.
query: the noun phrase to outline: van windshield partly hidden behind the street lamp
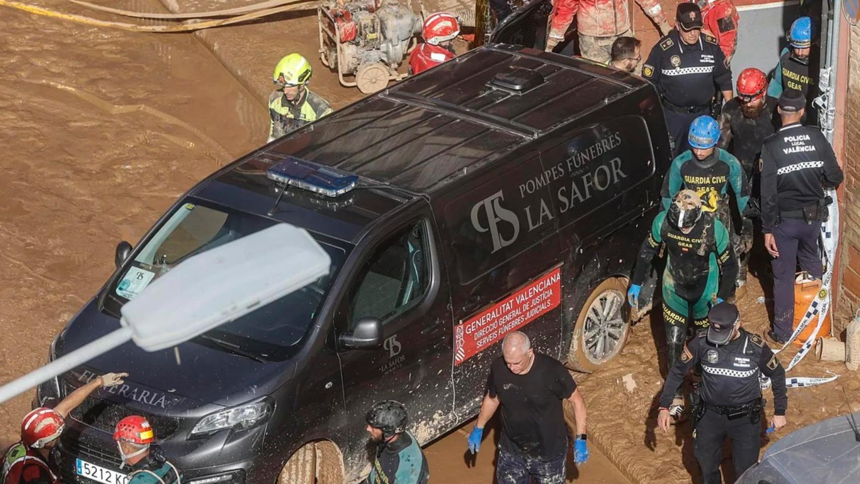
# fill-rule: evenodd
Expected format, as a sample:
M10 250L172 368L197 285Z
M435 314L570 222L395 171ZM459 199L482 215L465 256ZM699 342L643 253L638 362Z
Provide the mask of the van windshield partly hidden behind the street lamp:
M168 273L182 260L273 224L276 222L265 217L200 200L179 205L161 227L142 242L133 259L123 268L122 276L108 288L106 309L119 313L122 304L137 297L153 280ZM329 275L194 341L248 358L274 361L289 358L312 326L345 257L343 248L320 240L316 234L311 235L331 257ZM107 308L108 299L116 303L112 304L114 308Z

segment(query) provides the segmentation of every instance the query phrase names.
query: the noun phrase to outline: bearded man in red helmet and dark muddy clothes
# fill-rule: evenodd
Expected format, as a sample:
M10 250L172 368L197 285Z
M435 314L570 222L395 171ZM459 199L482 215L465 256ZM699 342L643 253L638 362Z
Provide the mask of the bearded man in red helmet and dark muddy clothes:
M753 168L759 160L765 138L776 132L774 113L777 100L766 95L766 89L767 76L764 72L754 67L742 70L738 76L738 95L726 103L720 114L720 141L717 147L727 150L740 162L749 184L750 200L747 206L751 207L759 206L753 181L759 170ZM754 208L747 211L751 217L757 216ZM739 298L746 293L746 268L749 251L753 248L753 220L741 217L741 222L740 230L732 230L734 254L738 256L738 280L735 285Z

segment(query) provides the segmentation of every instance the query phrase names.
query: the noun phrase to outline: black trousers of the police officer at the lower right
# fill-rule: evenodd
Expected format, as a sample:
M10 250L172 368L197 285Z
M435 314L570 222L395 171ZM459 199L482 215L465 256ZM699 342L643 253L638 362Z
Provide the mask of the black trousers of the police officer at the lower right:
M702 469L704 484L720 484L720 457L722 442L726 437L732 440L732 462L735 477L759 461L761 446L759 423L753 424L749 417L743 416L728 420L726 415L713 410L705 411L702 420L693 431L693 455Z

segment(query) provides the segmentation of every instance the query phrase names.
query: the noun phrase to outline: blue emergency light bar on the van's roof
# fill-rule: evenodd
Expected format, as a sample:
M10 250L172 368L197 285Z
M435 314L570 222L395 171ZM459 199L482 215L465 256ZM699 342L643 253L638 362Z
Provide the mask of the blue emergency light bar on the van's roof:
M266 176L269 180L309 192L320 193L327 197L337 197L347 193L359 181L358 175L345 173L295 156L287 156L285 161L268 168Z

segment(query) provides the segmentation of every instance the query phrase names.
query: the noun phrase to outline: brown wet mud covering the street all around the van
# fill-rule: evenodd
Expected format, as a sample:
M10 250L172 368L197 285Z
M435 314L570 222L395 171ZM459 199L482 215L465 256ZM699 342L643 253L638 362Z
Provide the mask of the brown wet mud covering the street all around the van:
M124 20L59 0L34 3ZM197 0L182 6L202 10L247 3L254 2ZM664 3L670 17L674 3ZM178 2L110 4L165 11L163 5L176 9ZM631 8L637 34L646 37L653 26L640 9ZM113 272L116 242L136 243L188 187L265 141L264 102L278 58L293 51L309 58L316 70L311 89L334 107L362 96L358 89L341 88L336 75L319 63L313 10L192 35L132 34L0 7L0 32L3 382L45 362L54 335ZM650 42L645 44L643 57ZM758 333L767 325L765 306L755 302L760 295L753 279L740 301L746 328ZM661 345L662 328L654 328ZM783 365L794 351L780 357ZM616 361L594 375L576 376L588 405L593 448L580 481L624 482L598 449L631 481L688 482L697 473L686 424L675 435L654 433L654 397L662 386L657 354L646 319L633 328ZM821 364L810 355L789 376L825 377L827 370L843 376L820 387L789 390L789 426L771 438L848 412L843 389L851 409L858 410L860 380L844 365ZM632 394L621 383L629 373L638 386ZM0 405L0 448L17 440L33 395ZM463 430L429 446L434 481L490 482L492 438L485 438L474 469L465 467Z

